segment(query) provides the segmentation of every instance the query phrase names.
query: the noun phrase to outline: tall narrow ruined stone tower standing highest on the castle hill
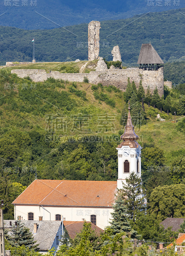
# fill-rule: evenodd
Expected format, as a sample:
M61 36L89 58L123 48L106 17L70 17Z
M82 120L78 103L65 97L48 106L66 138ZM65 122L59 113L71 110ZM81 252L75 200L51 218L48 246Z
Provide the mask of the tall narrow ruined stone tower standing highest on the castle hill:
M88 25L88 59L97 60L100 50L100 22L91 21Z

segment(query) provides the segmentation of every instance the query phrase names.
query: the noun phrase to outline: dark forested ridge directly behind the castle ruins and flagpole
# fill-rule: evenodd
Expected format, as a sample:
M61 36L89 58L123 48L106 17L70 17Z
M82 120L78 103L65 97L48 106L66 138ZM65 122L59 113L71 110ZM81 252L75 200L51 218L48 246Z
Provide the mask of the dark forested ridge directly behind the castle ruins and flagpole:
M185 55L185 9L136 15L126 20L101 21L100 57L112 60L111 50L119 45L122 61L136 65L141 44L153 45L166 63L182 61ZM88 24L50 30L0 27L0 63L31 61L35 38L37 61L88 59Z

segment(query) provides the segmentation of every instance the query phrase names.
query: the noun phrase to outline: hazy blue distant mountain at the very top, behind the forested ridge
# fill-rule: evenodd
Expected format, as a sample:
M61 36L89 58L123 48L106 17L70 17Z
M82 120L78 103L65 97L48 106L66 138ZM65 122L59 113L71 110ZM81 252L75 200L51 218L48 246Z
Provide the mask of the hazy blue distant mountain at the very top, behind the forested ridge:
M91 20L126 19L141 13L177 8L185 8L185 1L2 0L0 14L4 14L0 16L0 25L24 29L51 29L88 23Z

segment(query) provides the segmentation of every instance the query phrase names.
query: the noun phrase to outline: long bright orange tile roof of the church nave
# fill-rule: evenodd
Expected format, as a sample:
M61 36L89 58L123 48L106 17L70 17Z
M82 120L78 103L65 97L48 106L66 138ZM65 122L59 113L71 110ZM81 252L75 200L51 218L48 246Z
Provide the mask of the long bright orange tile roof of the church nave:
M12 204L111 207L116 191L117 181L34 180Z

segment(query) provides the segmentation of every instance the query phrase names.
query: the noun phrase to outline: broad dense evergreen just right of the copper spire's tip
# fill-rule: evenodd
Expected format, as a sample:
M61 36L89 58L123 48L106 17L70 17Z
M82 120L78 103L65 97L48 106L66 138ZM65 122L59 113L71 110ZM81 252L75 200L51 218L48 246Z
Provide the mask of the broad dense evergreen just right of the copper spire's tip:
M146 124L147 115L143 111L140 102L136 102L131 110L131 116L132 116L132 124L133 126L140 127L143 124Z

